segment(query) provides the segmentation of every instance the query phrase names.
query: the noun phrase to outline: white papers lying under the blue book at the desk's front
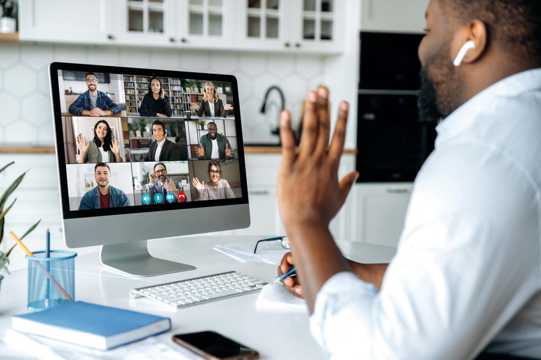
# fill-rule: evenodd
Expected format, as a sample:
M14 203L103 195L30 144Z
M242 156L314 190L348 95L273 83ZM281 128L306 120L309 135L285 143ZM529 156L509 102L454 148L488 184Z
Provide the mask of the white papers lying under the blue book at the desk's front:
M171 340L171 333L151 336L108 351L93 350L9 329L0 342L3 356L21 360L201 360ZM21 356L22 352L28 354Z

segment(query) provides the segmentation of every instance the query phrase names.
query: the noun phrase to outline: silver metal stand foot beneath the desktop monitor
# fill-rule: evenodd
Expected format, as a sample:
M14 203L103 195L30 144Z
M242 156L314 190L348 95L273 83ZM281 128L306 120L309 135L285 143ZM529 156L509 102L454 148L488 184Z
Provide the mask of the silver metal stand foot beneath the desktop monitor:
M120 271L129 276L154 276L194 270L195 266L176 263L150 255L147 241L131 241L130 243L102 245L100 261L104 267Z

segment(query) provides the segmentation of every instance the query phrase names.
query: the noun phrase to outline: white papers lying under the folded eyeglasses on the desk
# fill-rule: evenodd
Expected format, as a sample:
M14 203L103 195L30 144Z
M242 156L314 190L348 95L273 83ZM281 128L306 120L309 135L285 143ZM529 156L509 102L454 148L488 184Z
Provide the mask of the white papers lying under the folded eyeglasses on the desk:
M280 240L263 241L258 245L258 251L254 254L254 243L234 243L234 244L222 244L216 245L214 248L221 252L227 253L229 256L234 254L235 256L243 259L244 261L264 261L268 264L278 265L282 260L284 254L289 252L288 249L282 247ZM236 253L236 254L235 254ZM259 260L253 260L258 258Z

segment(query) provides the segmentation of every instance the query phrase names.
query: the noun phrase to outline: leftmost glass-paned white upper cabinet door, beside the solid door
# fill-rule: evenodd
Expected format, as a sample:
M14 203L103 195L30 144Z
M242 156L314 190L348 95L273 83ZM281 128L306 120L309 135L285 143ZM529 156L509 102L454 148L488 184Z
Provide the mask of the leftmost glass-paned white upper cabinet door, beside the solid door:
M116 0L116 42L173 47L174 0Z

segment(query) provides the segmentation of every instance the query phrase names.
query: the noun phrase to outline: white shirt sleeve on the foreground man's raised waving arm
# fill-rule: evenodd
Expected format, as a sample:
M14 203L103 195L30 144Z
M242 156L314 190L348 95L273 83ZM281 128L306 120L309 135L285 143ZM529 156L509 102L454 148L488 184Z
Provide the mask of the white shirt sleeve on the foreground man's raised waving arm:
M539 193L494 150L432 154L381 290L352 273L316 296L313 336L332 358L467 359L540 286Z

